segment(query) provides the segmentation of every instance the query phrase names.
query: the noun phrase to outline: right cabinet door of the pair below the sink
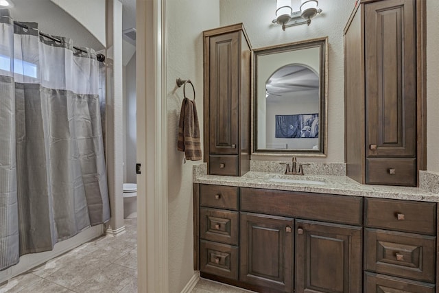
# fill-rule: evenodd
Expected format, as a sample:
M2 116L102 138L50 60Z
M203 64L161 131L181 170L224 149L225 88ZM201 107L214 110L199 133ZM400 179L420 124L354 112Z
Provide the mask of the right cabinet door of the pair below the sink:
M361 227L296 220L296 292L361 292Z

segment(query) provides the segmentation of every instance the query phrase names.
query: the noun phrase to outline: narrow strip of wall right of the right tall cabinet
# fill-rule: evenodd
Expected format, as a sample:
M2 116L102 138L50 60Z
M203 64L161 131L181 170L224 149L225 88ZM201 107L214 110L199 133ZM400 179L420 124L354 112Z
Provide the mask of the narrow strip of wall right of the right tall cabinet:
M427 0L427 170L439 172L439 1Z

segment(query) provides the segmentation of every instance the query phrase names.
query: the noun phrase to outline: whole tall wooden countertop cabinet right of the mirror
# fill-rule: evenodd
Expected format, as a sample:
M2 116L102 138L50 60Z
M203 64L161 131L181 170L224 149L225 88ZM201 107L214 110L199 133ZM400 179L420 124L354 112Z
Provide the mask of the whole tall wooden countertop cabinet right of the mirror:
M347 175L416 186L425 169L420 0L359 1L344 30Z

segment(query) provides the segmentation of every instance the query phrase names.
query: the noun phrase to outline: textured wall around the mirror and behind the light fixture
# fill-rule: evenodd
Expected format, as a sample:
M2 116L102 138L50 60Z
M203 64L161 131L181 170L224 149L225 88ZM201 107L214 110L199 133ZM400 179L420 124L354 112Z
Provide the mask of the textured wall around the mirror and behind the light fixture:
M219 3L221 25L244 23L253 48L329 37L328 156L309 161L344 162L343 29L355 1L319 1L323 14L316 16L311 25L287 27L285 32L271 22L276 11L275 0L220 0Z

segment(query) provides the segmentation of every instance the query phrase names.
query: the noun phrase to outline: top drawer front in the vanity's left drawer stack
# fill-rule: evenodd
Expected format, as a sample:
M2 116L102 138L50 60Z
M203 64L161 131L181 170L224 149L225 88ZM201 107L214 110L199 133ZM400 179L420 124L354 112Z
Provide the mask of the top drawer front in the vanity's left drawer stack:
M222 185L200 185L200 206L238 210L239 188Z

